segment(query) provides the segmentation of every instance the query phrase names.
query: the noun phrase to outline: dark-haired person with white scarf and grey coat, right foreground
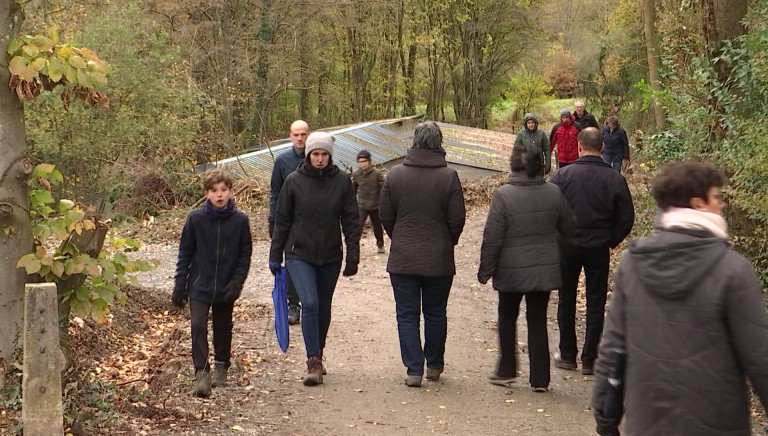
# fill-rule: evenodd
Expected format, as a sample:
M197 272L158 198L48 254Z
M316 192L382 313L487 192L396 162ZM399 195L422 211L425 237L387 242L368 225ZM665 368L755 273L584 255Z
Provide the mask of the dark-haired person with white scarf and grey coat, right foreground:
M731 249L723 177L710 164L675 162L651 183L654 233L634 241L616 273L595 365L598 433L611 355L626 351L629 435L748 436L749 389L768 400L768 315L752 265Z

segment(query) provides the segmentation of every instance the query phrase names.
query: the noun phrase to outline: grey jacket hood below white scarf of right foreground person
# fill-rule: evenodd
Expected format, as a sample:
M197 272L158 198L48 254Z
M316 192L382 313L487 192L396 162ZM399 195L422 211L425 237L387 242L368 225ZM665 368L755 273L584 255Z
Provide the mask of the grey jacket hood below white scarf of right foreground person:
M726 239L706 230L682 228L657 229L629 248L648 292L668 300L683 298L698 289L728 250Z

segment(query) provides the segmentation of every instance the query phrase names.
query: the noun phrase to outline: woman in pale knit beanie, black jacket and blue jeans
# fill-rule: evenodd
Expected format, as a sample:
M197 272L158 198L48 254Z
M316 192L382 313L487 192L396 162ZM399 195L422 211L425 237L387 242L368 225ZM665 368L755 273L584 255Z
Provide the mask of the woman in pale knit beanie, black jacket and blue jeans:
M333 164L333 136L307 138L306 158L280 190L269 268L288 273L301 300L301 331L307 349L304 385L323 382L323 348L331 324L331 300L341 271L341 233L347 245L344 276L357 273L360 222L352 181Z

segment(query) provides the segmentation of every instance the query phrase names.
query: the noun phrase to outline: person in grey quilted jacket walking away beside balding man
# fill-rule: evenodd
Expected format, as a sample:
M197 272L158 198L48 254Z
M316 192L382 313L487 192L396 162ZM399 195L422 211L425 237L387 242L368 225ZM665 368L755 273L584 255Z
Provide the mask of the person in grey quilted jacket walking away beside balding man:
M515 146L509 182L493 194L483 232L477 279L499 291L501 356L491 383L508 386L517 377L517 316L525 297L528 320L529 382L535 392L549 388L549 292L560 287L560 242L574 230L571 208L560 189L542 178L541 150Z

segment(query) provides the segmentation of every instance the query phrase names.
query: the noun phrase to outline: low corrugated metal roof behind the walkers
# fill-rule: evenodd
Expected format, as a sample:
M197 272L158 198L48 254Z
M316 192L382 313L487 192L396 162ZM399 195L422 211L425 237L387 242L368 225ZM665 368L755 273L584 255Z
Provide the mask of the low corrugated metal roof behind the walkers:
M475 129L456 124L438 123L443 132L443 147L449 163L469 165L494 171L506 171L509 168L506 150L511 150L515 135L490 130ZM405 157L410 148L413 133L398 135L393 130L379 123L363 123L337 130L325 129L335 138L333 161L342 170L357 167L357 153L360 150L371 152L374 164L383 164ZM274 166L274 158L292 147L289 142L277 146L223 159L205 165L223 166L238 177L269 180Z

